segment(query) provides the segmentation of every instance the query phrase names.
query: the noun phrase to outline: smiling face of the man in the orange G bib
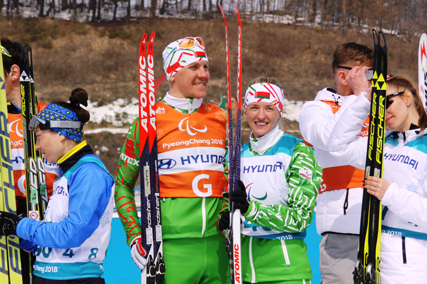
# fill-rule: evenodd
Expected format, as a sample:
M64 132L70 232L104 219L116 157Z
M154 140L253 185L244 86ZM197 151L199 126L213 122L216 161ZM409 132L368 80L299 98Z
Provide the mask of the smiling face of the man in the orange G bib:
M204 98L209 77L206 60L188 64L170 78L169 94L177 98Z

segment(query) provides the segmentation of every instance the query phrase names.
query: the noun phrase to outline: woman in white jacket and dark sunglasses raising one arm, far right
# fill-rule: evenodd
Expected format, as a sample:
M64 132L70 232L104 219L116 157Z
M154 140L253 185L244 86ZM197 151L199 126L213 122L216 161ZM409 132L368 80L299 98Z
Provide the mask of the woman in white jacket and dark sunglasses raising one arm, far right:
M358 137L370 113L370 90L361 75L355 108L341 116L328 141L332 155L364 169L368 137ZM356 93L356 92L355 92ZM427 115L415 84L403 76L387 81L383 179L368 176L367 192L382 203L381 283L427 279Z

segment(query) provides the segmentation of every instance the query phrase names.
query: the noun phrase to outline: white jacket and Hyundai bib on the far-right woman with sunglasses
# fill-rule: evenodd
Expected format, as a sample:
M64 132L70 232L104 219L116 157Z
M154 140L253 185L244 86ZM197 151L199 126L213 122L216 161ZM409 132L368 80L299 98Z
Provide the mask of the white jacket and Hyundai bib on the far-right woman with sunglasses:
M347 110L333 129L328 149L331 155L364 168L368 139L352 139L370 102L357 99L358 109ZM381 204L382 232L427 240L427 130L385 133L383 178L390 183ZM360 153L360 155L357 155Z

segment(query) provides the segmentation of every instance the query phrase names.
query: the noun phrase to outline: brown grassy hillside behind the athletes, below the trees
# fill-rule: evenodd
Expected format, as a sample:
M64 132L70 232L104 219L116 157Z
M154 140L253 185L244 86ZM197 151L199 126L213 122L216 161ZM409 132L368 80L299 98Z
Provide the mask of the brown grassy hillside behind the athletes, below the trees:
M235 94L237 23L234 16L229 15L228 18L231 87ZM385 24L383 28L386 28ZM210 81L206 101L219 103L220 93L227 93L224 23L219 18L142 17L128 22L91 23L16 16L9 20L0 18L0 30L2 37L32 46L36 91L40 101L66 100L71 90L81 87L87 90L89 99L96 105L123 99L126 110L132 98L138 95L139 43L142 34L151 31L156 31L156 78L164 74L162 52L167 44L189 35L199 36L207 45L209 58ZM387 33L386 40L388 73L408 75L416 81L419 37L400 31ZM349 25L343 34L340 28L327 26L245 20L242 23L243 92L253 78L273 76L282 83L288 100L311 100L320 89L335 87L332 53L335 46L348 41L372 47L372 32L368 27L359 29L353 25ZM165 81L157 92L157 98L163 97L167 90ZM114 118L114 114L111 116ZM89 124L87 129L101 127L117 126L102 121ZM127 128L129 124L124 123L121 127ZM242 127L246 129L243 132L243 140L246 141L248 126L243 124ZM299 135L297 121L284 120L284 128ZM125 134L103 132L85 136L94 147L107 149L100 151L99 155L114 174Z

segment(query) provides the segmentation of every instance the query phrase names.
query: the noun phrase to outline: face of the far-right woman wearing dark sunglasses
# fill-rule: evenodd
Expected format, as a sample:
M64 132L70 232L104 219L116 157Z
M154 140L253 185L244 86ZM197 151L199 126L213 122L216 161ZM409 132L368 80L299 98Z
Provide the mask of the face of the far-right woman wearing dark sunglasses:
M386 95L391 95L399 91L400 90L398 90L396 87L390 86L387 87ZM409 119L407 96L408 94L404 93L402 95L390 97L393 102L385 111L385 126L387 126L392 131L403 132L409 130L411 121Z

